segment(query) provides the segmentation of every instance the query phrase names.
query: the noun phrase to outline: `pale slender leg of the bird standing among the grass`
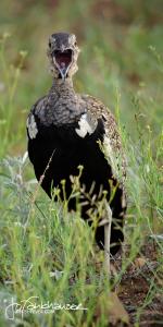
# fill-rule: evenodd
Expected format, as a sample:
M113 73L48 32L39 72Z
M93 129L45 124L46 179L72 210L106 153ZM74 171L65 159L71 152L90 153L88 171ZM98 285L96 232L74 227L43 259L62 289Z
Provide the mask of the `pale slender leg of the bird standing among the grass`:
M99 226L104 226L104 266L106 274L110 275L110 243L111 243L111 226L112 226L112 210L109 203L105 201L105 218L100 221Z

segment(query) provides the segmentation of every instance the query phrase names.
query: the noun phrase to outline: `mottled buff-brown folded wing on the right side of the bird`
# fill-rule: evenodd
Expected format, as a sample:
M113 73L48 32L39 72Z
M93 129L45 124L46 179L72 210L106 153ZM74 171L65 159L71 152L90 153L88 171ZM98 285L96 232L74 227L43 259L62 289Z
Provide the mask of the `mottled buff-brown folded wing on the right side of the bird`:
M104 125L101 149L112 167L113 175L124 185L126 178L126 158L122 147L122 141L113 113L98 99L89 95L83 95L87 112L96 120L102 120Z

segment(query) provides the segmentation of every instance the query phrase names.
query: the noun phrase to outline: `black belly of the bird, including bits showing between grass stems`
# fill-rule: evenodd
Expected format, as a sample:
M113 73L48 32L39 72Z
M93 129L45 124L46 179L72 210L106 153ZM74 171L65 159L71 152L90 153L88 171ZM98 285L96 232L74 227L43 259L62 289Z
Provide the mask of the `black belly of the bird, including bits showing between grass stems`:
M91 137L72 137L68 134L65 137L64 131L61 133L42 133L34 140L28 142L28 155L34 165L35 174L39 181L45 174L41 186L46 193L51 197L52 187L59 186L61 189L61 198L63 197L61 181L65 180L66 197L72 194L71 175L78 175L78 167L83 167L80 177L80 184L85 185L86 193L90 191L93 183L93 194L99 194L100 190L108 192L108 201L110 199L110 182L112 177L111 167L100 150L99 144ZM114 199L111 204L114 217L118 216L121 207L122 190L117 187ZM70 209L76 209L76 201L68 202ZM87 211L89 204L82 207L82 216L87 219ZM121 225L123 221L121 221ZM104 242L103 227L97 229L97 242L100 247ZM114 231L112 226L111 241L115 239L123 240L122 231ZM114 254L120 246L111 249Z

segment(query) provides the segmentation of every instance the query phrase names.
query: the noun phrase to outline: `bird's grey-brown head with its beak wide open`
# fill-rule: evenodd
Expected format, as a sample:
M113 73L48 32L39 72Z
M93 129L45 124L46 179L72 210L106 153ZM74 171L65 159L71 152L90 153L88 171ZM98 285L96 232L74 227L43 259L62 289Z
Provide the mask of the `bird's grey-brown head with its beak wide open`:
M48 57L50 68L55 78L72 77L77 71L79 49L76 36L68 33L54 33L49 38Z

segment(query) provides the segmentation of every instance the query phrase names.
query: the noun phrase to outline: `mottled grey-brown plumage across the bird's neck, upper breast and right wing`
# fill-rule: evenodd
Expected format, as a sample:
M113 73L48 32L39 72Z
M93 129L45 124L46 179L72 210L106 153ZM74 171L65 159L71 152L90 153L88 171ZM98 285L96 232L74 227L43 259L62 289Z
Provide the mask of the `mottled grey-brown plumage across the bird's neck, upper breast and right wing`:
M112 160L111 164L115 166L115 178L118 178L120 183L124 183L126 161L120 133L113 113L101 101L89 95L76 94L71 78L64 83L62 80L57 80L49 94L33 107L32 113L33 111L46 126L77 123L80 116L86 112L95 128L97 120L102 119L106 137L103 150L109 162Z

